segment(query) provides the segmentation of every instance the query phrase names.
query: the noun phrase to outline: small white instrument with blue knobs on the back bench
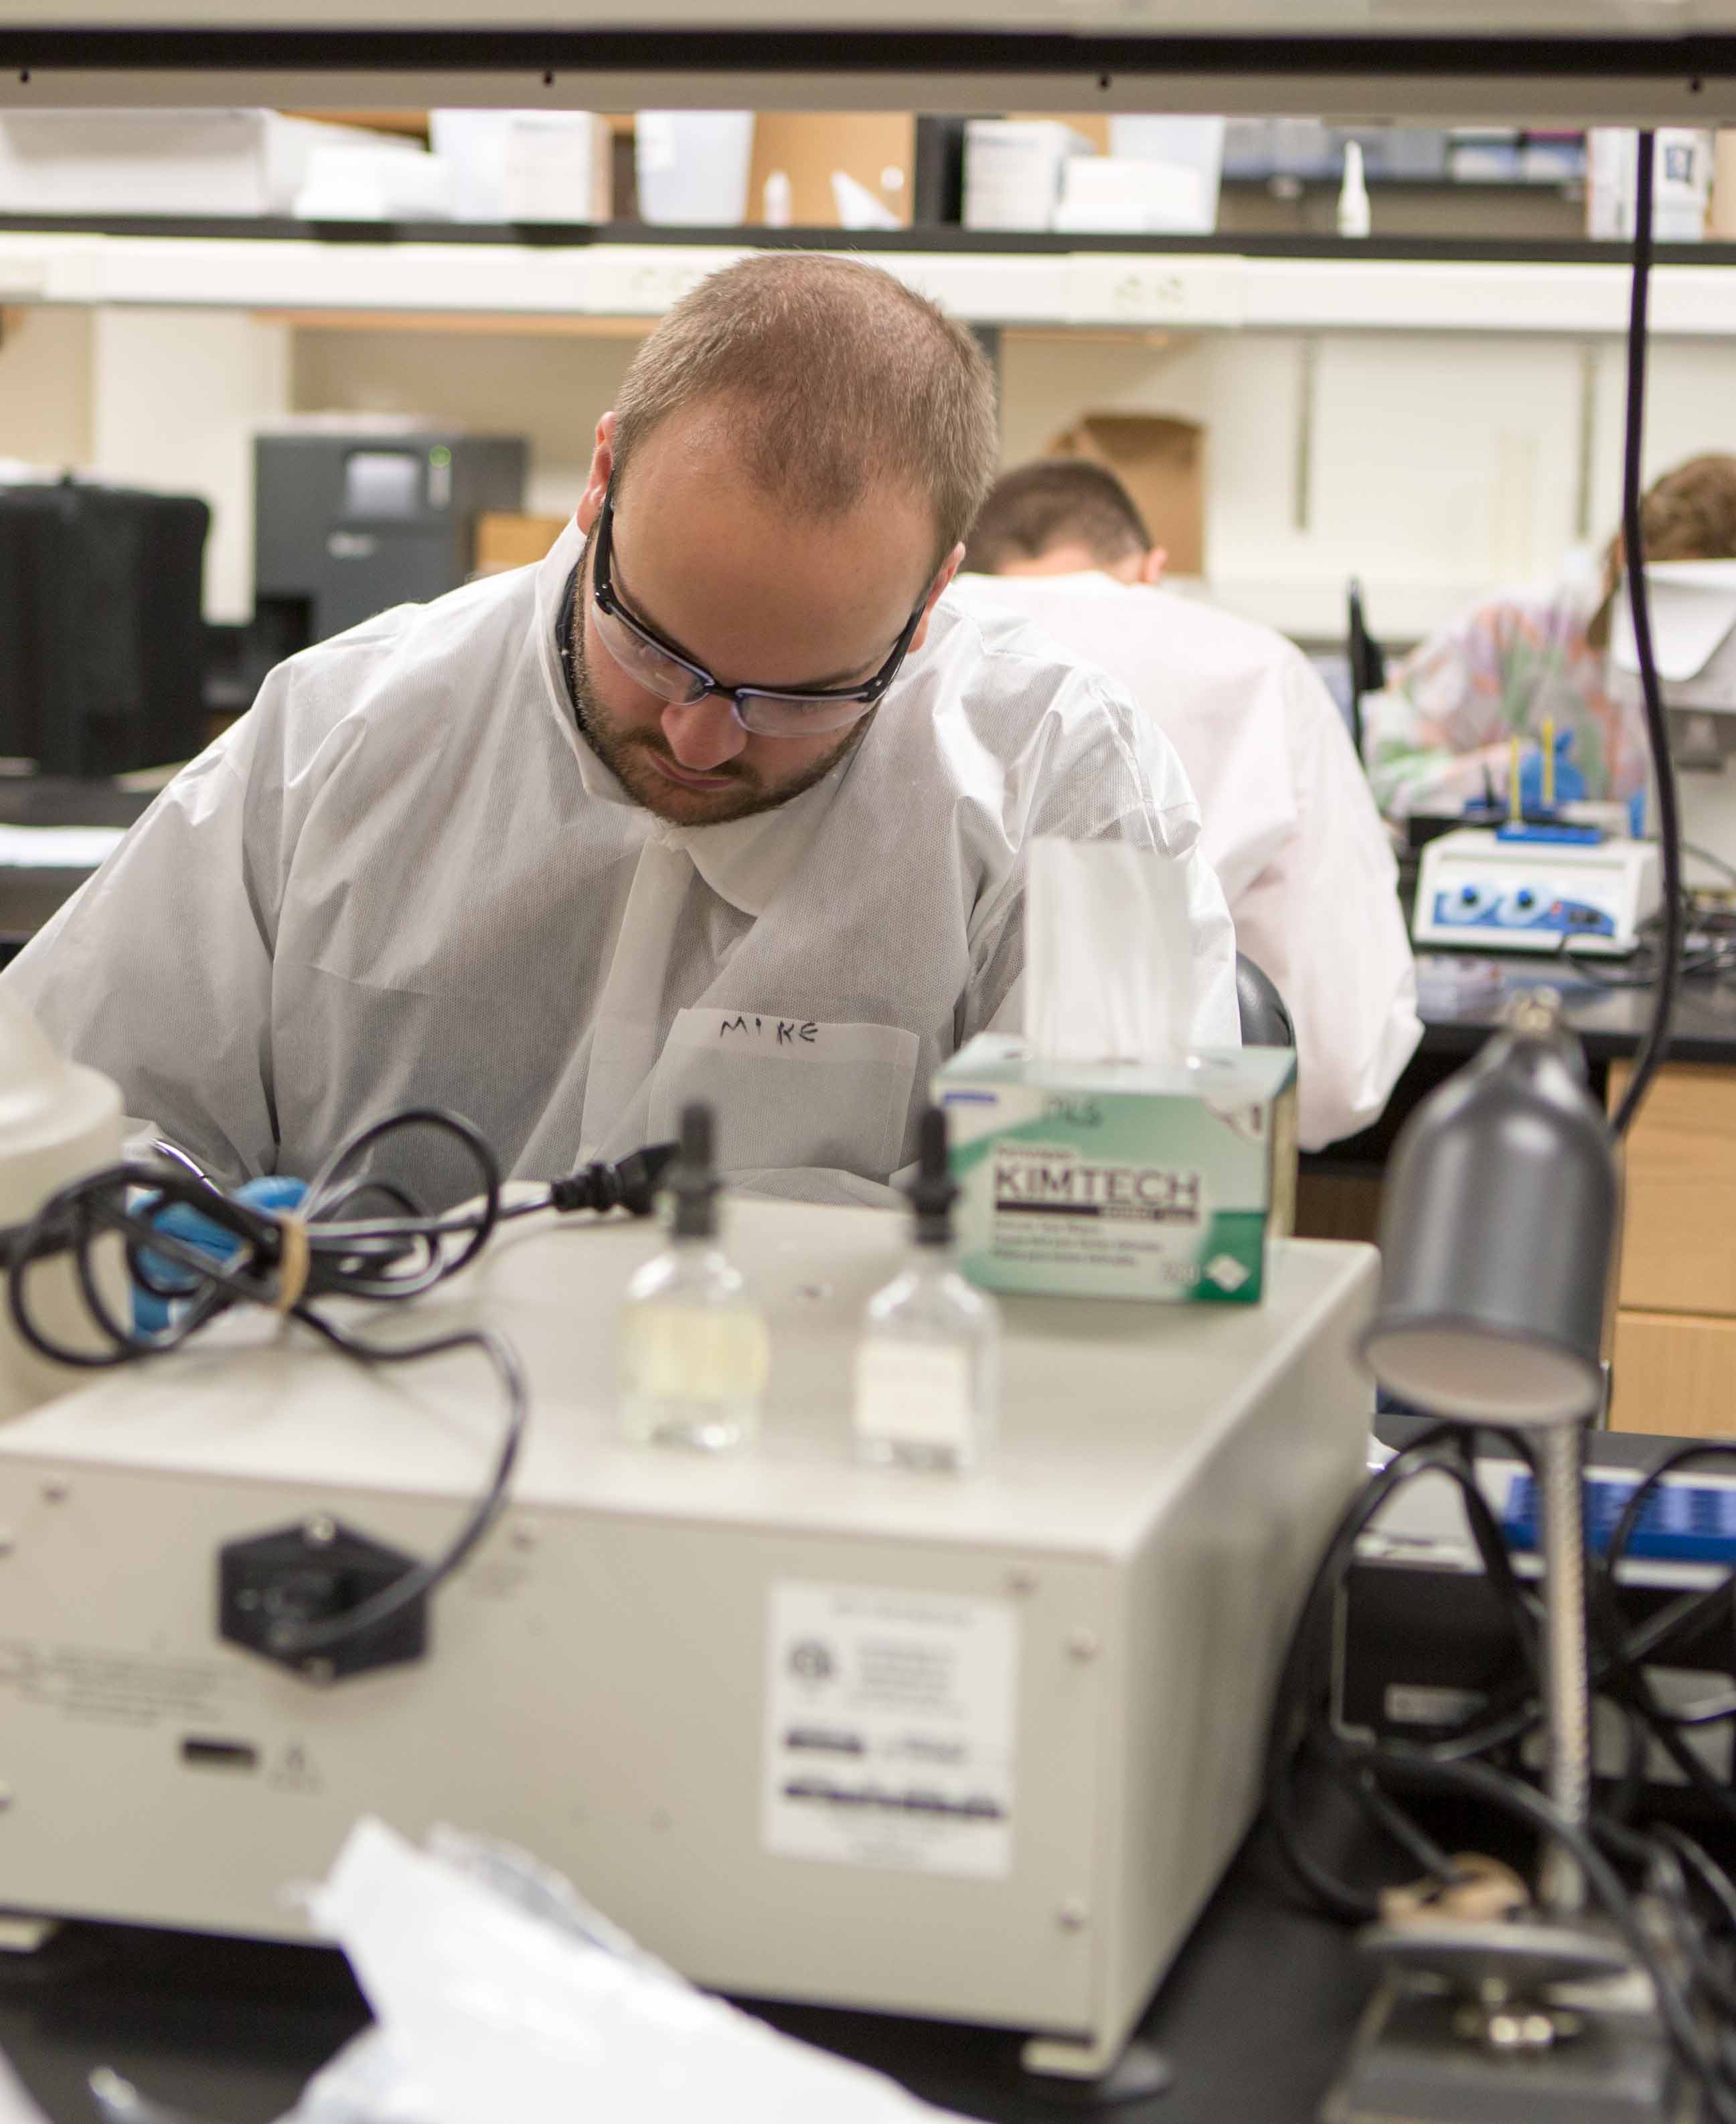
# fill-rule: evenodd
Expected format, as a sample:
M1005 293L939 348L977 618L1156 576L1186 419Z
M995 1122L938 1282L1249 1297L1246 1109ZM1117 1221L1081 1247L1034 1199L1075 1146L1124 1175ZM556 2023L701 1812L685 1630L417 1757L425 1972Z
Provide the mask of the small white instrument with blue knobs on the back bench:
M1460 826L1422 852L1411 937L1479 952L1621 958L1657 907L1655 841L1581 845Z

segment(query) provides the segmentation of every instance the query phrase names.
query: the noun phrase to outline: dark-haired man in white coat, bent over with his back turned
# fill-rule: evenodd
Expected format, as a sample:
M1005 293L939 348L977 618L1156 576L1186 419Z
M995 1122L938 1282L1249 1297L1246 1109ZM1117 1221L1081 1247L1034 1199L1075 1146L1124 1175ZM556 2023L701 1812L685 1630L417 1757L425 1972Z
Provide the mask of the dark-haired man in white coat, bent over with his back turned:
M1296 1026L1303 1147L1366 1128L1422 1037L1417 979L1392 843L1309 661L1266 627L1154 590L1162 554L1103 465L1007 474L965 569L941 610L1035 620L1175 746L1237 943Z

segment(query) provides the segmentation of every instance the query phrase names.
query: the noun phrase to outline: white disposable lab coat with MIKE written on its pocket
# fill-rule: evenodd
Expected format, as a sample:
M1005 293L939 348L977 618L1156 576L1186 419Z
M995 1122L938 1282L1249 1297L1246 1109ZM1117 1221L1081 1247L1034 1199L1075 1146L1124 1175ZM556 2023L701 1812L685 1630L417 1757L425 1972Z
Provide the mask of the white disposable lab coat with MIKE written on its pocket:
M1186 871L1194 1039L1235 941L1173 750L1018 620L937 612L793 803L676 828L578 735L550 556L280 665L6 969L59 1047L223 1175L427 1102L555 1177L718 1113L744 1185L890 1200L933 1070L1018 1024L1033 835ZM431 1198L467 1175L393 1160Z

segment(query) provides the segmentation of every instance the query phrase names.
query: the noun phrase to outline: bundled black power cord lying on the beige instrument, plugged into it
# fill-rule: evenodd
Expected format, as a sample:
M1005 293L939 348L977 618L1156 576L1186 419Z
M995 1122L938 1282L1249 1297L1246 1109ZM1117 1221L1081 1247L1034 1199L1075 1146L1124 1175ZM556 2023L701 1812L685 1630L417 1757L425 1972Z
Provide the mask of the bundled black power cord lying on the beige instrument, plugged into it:
M470 1202L429 1215L408 1189L363 1170L372 1153L410 1132L431 1132L465 1153L476 1179ZM472 1328L421 1342L374 1342L338 1325L317 1308L317 1300L402 1304L421 1298L467 1268L501 1223L548 1209L648 1215L671 1155L674 1145L652 1145L504 1204L499 1162L478 1130L440 1107L406 1107L348 1136L308 1183L295 1211L272 1213L219 1187L185 1151L161 1145L159 1162L130 1160L85 1175L49 1196L28 1223L0 1230L0 1260L11 1270L6 1302L19 1336L38 1355L81 1370L136 1364L178 1349L236 1304L285 1313L363 1366L416 1364L465 1349L493 1366L506 1395L506 1429L489 1480L446 1548L402 1570L340 1614L272 1625L272 1657L314 1665L416 1608L472 1555L506 1506L529 1415L523 1368L501 1336ZM370 1196L385 1215L355 1215ZM227 1255L219 1257L208 1245L166 1230L161 1219L174 1206L195 1211L215 1226L229 1240ZM168 1302L166 1325L138 1328L117 1315L102 1274L102 1253L117 1238L132 1281ZM45 1262L68 1255L98 1349L51 1334L32 1306L34 1274Z

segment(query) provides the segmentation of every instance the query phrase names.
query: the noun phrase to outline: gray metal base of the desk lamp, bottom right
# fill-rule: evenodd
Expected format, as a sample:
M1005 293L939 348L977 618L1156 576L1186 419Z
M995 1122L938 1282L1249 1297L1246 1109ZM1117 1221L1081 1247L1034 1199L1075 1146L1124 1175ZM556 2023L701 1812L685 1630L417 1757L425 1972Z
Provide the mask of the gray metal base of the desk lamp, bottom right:
M1526 2043L1547 2007L1513 2007L1515 2041L1496 2048L1462 1994L1388 1977L1356 2031L1322 2124L1674 2124L1683 2084L1649 2011L1560 2016L1564 2033ZM1507 2033L1507 2031L1498 2031Z

